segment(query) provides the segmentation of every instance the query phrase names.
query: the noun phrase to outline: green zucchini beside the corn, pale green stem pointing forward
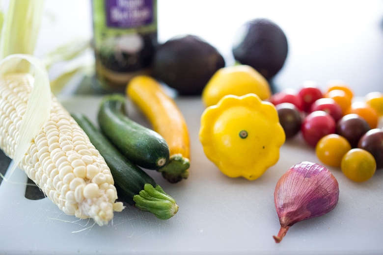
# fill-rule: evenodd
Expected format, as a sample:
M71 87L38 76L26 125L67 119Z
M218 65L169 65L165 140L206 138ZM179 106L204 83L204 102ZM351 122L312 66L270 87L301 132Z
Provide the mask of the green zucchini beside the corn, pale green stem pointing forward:
M104 157L120 200L142 211L151 212L162 220L169 219L177 213L178 205L175 200L167 195L145 171L120 153L85 115L81 113L71 115Z

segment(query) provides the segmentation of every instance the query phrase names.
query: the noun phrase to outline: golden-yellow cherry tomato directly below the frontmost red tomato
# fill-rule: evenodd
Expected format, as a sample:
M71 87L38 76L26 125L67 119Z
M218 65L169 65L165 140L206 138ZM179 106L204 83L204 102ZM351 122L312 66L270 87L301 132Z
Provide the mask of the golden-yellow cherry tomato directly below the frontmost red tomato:
M346 138L338 134L329 134L319 140L315 153L324 164L340 167L343 156L351 149Z

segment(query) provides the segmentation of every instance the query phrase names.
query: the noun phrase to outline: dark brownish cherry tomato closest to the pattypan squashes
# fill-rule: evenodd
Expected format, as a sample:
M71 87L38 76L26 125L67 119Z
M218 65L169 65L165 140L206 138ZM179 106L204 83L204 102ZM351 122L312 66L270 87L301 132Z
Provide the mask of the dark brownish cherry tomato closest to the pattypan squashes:
M286 134L286 139L294 137L301 130L301 112L292 103L283 102L276 106L278 112L279 123Z

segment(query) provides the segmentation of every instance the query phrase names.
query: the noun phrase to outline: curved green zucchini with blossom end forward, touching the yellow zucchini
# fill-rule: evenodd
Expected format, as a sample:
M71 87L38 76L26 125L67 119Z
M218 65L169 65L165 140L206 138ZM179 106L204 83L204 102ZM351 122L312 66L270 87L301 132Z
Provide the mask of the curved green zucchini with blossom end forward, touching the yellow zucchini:
M131 120L125 113L125 97L107 95L98 112L101 130L122 154L140 167L159 170L169 161L169 147L156 131Z

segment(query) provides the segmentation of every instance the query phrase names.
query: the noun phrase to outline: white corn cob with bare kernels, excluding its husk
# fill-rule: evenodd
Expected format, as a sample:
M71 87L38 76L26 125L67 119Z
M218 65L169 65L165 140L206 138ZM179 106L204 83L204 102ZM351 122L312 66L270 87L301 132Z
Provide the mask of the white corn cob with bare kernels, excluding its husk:
M0 149L13 158L33 77L0 76ZM52 96L50 117L19 167L64 213L102 226L121 211L109 167L88 136Z

